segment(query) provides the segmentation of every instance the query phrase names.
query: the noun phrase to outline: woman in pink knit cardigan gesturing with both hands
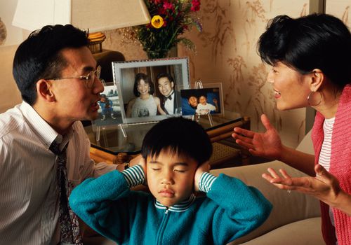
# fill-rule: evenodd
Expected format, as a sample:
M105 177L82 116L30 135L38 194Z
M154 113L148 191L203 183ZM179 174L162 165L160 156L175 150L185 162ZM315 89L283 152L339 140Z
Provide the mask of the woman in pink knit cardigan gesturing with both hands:
M280 177L268 169L263 178L278 188L317 197L326 244L351 244L350 31L331 15L277 16L260 36L258 51L273 66L267 80L274 86L277 109L317 110L314 155L282 145L265 115L265 133L234 128L233 137L253 155L281 160L309 174L291 178L280 169Z

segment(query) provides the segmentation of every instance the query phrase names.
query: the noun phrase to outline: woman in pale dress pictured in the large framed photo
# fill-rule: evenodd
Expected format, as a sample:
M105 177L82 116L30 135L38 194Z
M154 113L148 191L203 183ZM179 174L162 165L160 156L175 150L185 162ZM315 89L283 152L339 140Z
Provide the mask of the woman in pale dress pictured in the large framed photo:
M136 98L128 103L127 118L156 116L157 111L161 115L166 115L164 110L161 109L159 97L152 96L154 85L145 73L135 75L133 92Z

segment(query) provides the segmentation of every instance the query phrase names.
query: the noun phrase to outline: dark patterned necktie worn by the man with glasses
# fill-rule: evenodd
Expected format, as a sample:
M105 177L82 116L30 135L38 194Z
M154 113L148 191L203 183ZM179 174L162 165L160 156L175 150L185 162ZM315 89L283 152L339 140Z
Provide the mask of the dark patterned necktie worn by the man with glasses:
M79 244L82 245L81 235L79 232L79 223L77 215L73 213L72 209L68 205L68 197L71 193L71 186L69 186L67 178L67 167L66 167L66 149L60 151L58 144L53 141L50 146L50 151L52 151L56 158L56 164L58 165L58 187L59 187L59 216L58 221L60 223L60 234L61 243L65 244Z

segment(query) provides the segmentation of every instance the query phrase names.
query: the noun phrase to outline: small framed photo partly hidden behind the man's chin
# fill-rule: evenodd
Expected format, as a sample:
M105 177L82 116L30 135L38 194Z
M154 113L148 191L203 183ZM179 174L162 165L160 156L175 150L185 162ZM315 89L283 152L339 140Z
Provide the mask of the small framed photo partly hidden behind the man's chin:
M96 126L107 126L122 123L119 94L114 83L105 83L105 89L100 94L98 118L93 121Z

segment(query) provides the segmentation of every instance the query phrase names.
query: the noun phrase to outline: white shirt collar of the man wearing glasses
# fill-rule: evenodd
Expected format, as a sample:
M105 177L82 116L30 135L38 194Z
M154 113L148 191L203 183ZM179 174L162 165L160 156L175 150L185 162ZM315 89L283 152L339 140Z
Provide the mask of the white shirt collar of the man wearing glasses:
M41 116L34 110L32 106L30 106L27 102L22 102L20 105L20 111L22 111L25 120L32 128L33 132L37 134L41 142L49 148L53 141L60 144L60 150L68 143L69 139L72 137L72 128L69 130L64 137L58 134L48 123L46 120L41 118Z

